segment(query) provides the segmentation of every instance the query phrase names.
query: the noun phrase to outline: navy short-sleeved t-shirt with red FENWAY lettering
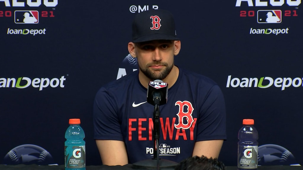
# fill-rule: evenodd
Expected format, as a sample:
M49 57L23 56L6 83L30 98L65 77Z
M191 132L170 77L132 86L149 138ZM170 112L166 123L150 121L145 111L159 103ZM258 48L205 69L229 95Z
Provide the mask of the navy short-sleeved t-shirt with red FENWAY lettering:
M124 141L128 163L151 159L154 106L138 71L102 87L94 102L94 139ZM161 159L181 162L192 156L195 142L226 139L223 94L211 79L179 68L160 110Z

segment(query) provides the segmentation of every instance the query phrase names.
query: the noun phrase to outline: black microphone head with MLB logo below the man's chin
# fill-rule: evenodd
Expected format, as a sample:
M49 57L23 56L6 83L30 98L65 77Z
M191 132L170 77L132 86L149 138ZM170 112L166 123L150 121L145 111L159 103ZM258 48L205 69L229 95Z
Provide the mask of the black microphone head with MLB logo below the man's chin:
M168 83L161 80L150 81L147 87L147 103L163 105L167 102Z

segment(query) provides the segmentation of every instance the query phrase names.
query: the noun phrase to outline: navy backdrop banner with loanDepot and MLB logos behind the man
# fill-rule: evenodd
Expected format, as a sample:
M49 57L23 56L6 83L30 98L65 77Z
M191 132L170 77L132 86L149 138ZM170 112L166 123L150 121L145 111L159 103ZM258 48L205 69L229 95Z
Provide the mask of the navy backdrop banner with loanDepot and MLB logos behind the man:
M86 165L101 165L95 94L138 69L127 49L135 15L165 9L182 44L175 65L210 77L224 94L228 139L219 160L237 165L242 119L255 119L259 165L303 165L301 5L0 0L0 164L63 165L68 119L79 118Z

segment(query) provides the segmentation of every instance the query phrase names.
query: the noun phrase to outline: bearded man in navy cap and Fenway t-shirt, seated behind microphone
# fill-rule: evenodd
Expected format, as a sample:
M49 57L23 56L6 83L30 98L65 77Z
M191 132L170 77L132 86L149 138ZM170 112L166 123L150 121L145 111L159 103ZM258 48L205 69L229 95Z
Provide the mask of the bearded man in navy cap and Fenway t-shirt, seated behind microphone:
M94 139L103 165L133 164L155 154L154 106L146 98L155 80L168 83L167 103L159 106L159 157L181 162L196 155L219 156L226 140L224 96L210 78L174 64L180 49L170 12L136 15L128 51L139 70L106 84L95 96Z

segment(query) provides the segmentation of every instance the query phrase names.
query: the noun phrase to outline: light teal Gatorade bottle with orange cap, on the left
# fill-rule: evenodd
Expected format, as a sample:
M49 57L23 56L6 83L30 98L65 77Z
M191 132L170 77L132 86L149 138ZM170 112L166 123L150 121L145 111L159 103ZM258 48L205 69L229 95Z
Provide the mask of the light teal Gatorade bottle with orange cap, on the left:
M65 132L65 170L85 170L85 134L80 119L69 119Z

